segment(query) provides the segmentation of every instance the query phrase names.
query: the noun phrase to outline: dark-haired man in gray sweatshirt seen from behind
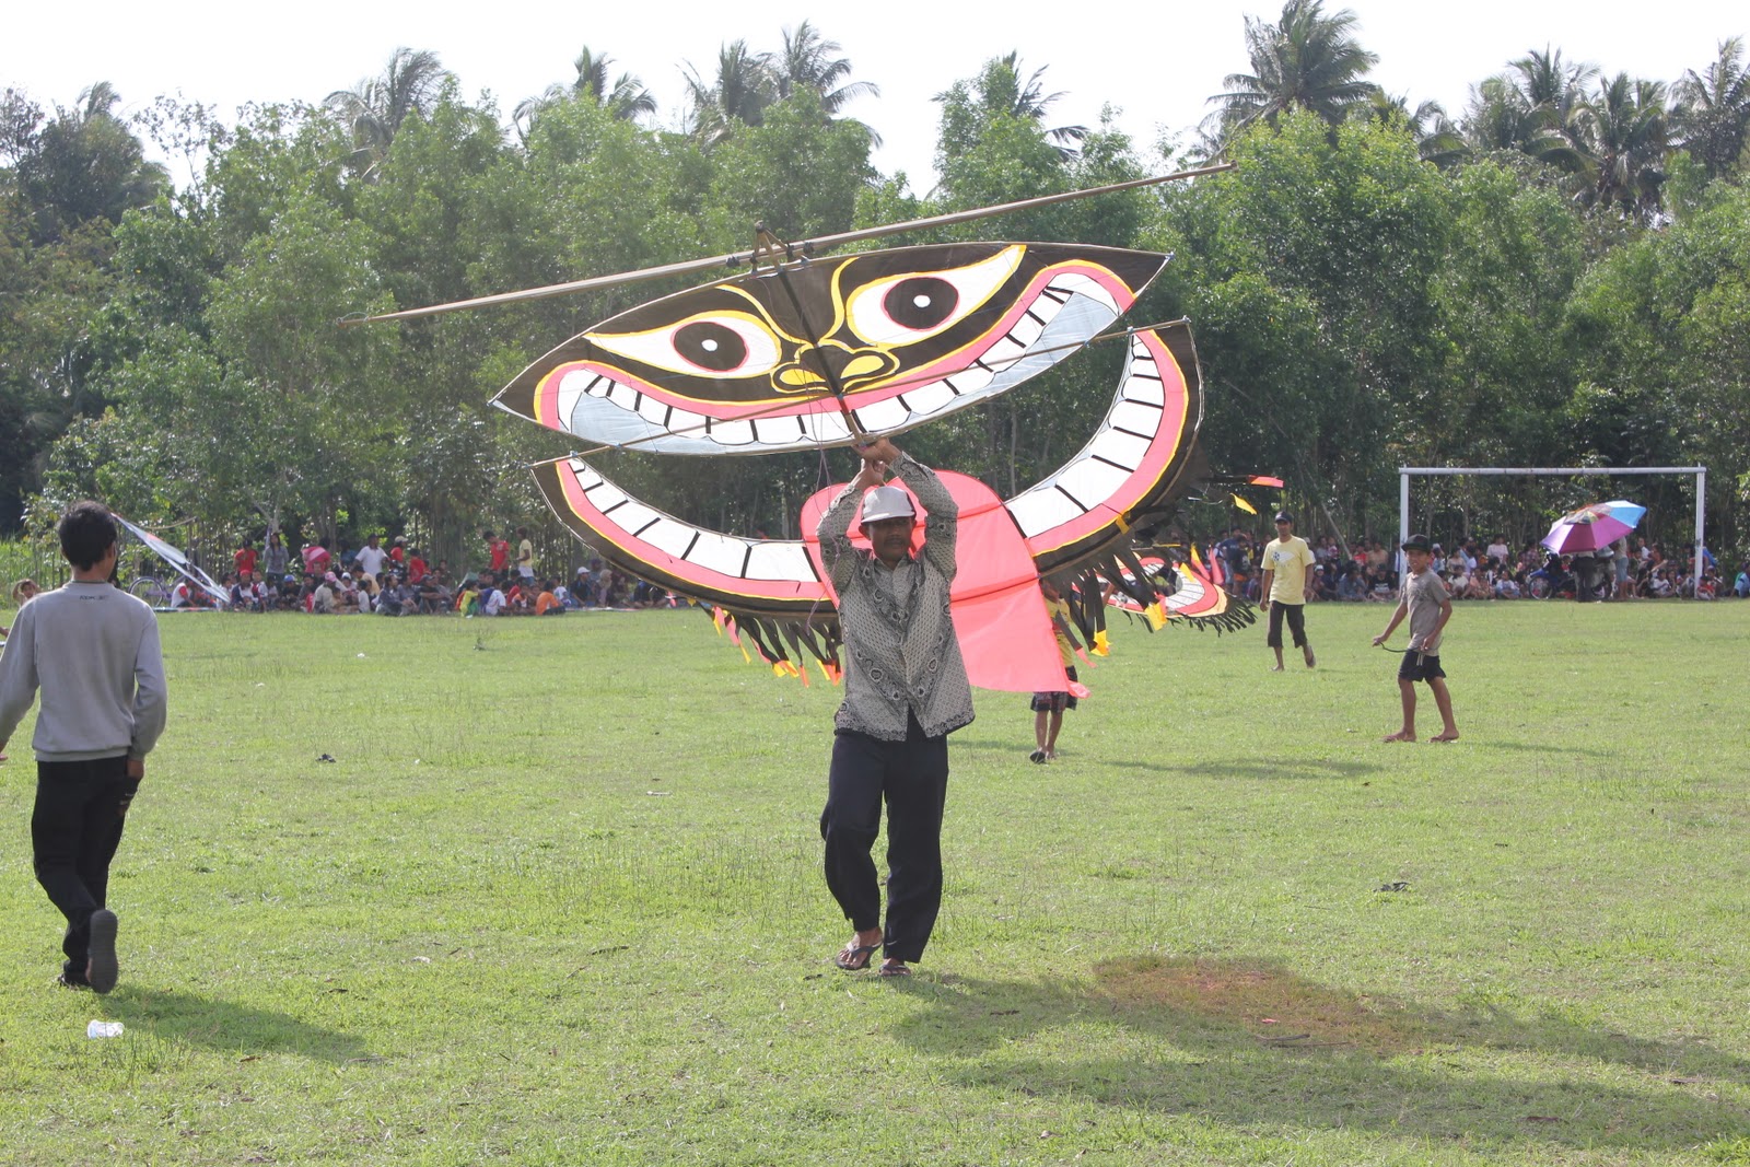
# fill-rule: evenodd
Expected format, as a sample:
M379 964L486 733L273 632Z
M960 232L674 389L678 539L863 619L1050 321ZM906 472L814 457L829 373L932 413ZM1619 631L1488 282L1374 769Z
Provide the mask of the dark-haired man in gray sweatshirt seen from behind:
M119 971L116 913L103 899L145 756L164 731L158 618L112 586L116 520L98 502L61 516L72 583L19 609L0 653L0 749L42 689L37 807L30 840L37 882L66 917L61 983L108 992Z

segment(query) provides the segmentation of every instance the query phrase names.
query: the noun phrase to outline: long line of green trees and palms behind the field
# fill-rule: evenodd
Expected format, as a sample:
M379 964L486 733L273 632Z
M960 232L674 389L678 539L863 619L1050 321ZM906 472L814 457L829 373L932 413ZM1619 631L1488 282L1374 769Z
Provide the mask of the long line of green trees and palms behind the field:
M434 52L397 51L326 100L233 121L158 98L122 119L0 100L0 534L74 495L208 541L264 527L406 530L462 558L485 525L553 532L527 464L569 439L486 406L534 357L676 285L336 327L444 303L984 206L1222 157L1232 171L959 224L905 241L1143 247L1174 261L1132 322L1190 317L1214 467L1288 481L1344 539L1390 535L1398 465L1710 467L1710 542L1746 542L1750 66L1738 38L1670 82L1544 47L1456 115L1367 80L1353 14L1290 0L1248 19L1246 72L1195 142L1158 154L1110 122L1055 126L1045 68L996 56L948 84L933 185L870 163L844 49L803 23L690 73L679 128L611 56L520 101L471 103ZM172 182L158 156L180 161ZM1104 411L1122 353L1094 346L906 437L1003 493L1055 469ZM833 455L604 455L656 506L793 535ZM845 455L838 455L840 460ZM1540 534L1619 486L1418 488L1444 534ZM1647 479L1682 541L1684 479ZM1230 523L1225 499L1192 528Z

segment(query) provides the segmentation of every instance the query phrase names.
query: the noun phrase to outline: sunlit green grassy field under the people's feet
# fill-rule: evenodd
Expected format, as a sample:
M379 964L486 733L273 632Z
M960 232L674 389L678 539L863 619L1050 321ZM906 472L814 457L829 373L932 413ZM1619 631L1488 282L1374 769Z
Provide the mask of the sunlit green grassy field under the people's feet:
M696 612L164 618L110 997L0 768L0 1162L1750 1162L1750 604L1461 605L1454 745L1386 616L1120 619L1050 766L980 693L905 983L828 964L836 691Z

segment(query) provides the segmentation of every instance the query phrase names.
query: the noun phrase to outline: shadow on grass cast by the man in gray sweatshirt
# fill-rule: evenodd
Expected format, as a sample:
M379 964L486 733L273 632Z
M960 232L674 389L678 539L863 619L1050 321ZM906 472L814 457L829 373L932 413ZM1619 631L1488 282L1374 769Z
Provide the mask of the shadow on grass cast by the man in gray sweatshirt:
M294 1053L322 1062L352 1062L366 1055L364 1045L355 1038L301 1022L289 1013L210 1001L186 992L122 985L105 997L105 1006L130 1029L152 1031L161 1038L212 1050Z

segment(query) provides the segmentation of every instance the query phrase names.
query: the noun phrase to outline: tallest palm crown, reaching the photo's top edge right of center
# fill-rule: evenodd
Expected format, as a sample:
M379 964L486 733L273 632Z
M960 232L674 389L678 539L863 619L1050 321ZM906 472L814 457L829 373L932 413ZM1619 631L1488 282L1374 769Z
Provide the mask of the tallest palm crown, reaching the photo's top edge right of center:
M1325 16L1323 0L1288 0L1278 24L1248 16L1251 72L1227 75L1222 80L1227 93L1209 98L1218 107L1211 119L1222 136L1232 138L1258 121L1276 124L1292 108L1337 124L1367 101L1376 86L1362 79L1379 54L1356 42L1354 24L1349 9Z

